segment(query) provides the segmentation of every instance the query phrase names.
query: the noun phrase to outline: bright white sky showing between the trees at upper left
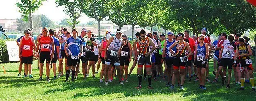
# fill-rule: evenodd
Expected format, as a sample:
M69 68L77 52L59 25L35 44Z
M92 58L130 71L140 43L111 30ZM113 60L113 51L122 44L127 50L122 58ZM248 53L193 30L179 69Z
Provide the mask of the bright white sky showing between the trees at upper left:
M21 13L19 12L19 8L15 5L19 0L0 0L1 2L1 8L4 8L1 10L0 19L17 19L21 17ZM3 3L2 3L3 2ZM37 11L32 13L33 15L39 15L44 14L49 17L50 20L54 22L60 22L63 18L69 18L69 15L66 15L65 12L63 12L64 7L57 7L57 4L55 4L55 0L47 0L43 2L43 5L40 6ZM82 15L82 14L81 14ZM83 15L82 17L79 17L78 21L80 23L87 23L89 20L89 17L86 15Z

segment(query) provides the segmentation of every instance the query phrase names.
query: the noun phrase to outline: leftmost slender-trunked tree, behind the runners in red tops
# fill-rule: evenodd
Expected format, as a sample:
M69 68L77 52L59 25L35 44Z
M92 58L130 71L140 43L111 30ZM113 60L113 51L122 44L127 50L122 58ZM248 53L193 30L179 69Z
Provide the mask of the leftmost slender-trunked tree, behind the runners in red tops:
M32 13L35 12L45 0L20 0L16 3L16 6L20 8L19 12L22 13L24 21L29 21L29 27L32 31L31 36L33 36L33 21Z

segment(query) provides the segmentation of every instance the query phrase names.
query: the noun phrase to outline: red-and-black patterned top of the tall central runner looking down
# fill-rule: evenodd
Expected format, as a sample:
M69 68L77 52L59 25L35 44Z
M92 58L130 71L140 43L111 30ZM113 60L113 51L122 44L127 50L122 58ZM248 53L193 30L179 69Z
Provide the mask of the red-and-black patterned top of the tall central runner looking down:
M139 54L145 55L149 52L149 37L146 37L144 40L140 37L139 38Z

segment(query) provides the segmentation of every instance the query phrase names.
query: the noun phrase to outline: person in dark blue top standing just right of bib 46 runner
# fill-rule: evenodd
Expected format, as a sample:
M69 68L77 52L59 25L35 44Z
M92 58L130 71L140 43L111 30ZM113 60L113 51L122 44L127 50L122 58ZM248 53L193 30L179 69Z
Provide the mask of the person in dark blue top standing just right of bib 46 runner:
M57 59L59 59L59 52L60 52L60 43L59 43L59 40L58 38L56 38L54 36L54 32L52 29L49 30L49 34L50 36L52 36L53 38L53 41L54 41L54 45L55 45L55 51L54 51L54 56L52 58L52 65L53 65L53 76L54 76L54 80L57 79L56 77L56 72L57 72L57 66L56 66L56 63L57 63ZM52 46L50 46L50 49L51 49L51 53L52 53Z

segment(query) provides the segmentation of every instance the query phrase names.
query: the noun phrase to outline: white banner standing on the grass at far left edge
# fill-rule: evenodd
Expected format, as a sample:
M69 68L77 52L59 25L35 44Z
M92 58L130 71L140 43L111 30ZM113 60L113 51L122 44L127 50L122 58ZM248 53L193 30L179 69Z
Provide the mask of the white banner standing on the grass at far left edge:
M19 46L17 45L16 41L6 41L9 61L19 61Z

